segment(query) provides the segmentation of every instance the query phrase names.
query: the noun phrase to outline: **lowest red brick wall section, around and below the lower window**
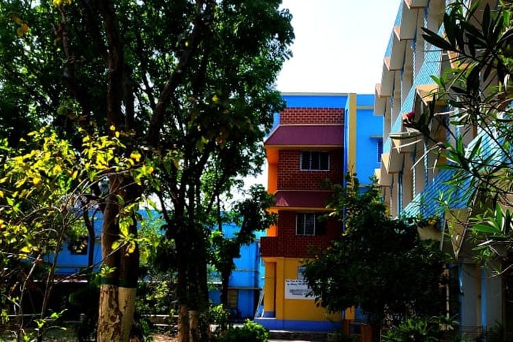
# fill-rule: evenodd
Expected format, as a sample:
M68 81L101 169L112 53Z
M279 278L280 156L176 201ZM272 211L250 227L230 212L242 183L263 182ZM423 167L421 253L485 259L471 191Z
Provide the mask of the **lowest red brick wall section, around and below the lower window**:
M331 241L341 233L341 223L329 219L326 222L326 235L295 235L295 211L280 211L278 236L261 238L262 257L307 258L311 248L326 249Z

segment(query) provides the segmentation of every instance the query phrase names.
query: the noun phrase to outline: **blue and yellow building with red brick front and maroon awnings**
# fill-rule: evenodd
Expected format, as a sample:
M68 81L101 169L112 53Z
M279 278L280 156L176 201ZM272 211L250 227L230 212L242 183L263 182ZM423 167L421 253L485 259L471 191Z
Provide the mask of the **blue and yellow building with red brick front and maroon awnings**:
M267 190L276 198L278 223L261 238L265 281L263 317L257 321L271 329L333 330L345 313L327 315L308 296L302 260L328 248L341 233L340 222L319 220L332 196L324 185L342 184L347 170L369 179L379 165L382 122L373 116L372 95L283 98L287 107L264 143ZM357 145L365 150L359 157Z

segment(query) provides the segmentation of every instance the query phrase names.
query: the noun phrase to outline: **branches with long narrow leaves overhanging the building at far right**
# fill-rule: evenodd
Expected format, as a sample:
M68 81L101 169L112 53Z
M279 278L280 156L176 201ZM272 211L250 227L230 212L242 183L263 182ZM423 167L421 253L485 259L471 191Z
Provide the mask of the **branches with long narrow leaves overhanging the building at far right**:
M450 65L434 77L434 95L451 111L439 114L432 105L422 120L428 127L437 122L450 137L435 151L447 160L439 167L452 172L445 202L471 210L470 221L459 223L484 261L508 261L513 246L512 10L509 1L458 0L444 15L445 36L423 28L425 40L448 53ZM433 132L425 135L436 141Z

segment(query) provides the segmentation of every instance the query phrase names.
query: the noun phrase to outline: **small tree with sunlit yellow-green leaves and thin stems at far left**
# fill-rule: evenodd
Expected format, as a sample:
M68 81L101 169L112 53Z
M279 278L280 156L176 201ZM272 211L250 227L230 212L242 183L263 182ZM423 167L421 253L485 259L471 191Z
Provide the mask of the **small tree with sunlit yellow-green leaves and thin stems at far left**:
M23 320L25 300L29 289L37 287L35 280L40 280L42 304L31 309L38 313L34 323L41 341L49 321L59 316L48 312L57 256L64 241L73 242L86 231L82 218L92 205L84 198L109 173L129 172L133 161L118 159L116 168L107 168L114 159L113 148L121 147L108 137L85 135L80 152L48 127L29 133L27 139L21 142L27 146L18 148L3 140L0 153L2 312L21 317L15 333L23 339L24 328L32 323ZM8 311L8 304L14 312Z

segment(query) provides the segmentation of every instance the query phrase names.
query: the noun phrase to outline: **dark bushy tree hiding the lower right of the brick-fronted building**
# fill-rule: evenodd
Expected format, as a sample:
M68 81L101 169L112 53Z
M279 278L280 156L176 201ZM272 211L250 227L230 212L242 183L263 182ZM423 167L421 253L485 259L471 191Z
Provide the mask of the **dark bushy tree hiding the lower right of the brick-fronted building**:
M391 219L373 185L358 179L335 186L330 215L344 225L328 250L305 261L304 276L317 303L330 312L359 306L374 328L384 318L443 311L443 261L434 241L421 240L416 224Z

